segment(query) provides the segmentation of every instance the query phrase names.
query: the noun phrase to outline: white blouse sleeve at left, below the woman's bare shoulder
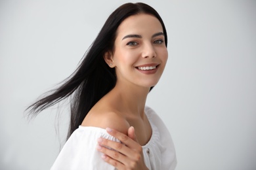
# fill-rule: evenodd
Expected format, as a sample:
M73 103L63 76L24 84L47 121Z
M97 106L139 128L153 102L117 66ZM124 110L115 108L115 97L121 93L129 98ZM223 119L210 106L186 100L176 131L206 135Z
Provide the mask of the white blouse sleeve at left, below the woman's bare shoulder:
M98 144L97 139L99 137L120 142L118 139L106 133L105 129L100 127L79 126L79 128L72 133L66 144L64 144L51 170L114 170L115 167L102 160L102 153L96 150Z

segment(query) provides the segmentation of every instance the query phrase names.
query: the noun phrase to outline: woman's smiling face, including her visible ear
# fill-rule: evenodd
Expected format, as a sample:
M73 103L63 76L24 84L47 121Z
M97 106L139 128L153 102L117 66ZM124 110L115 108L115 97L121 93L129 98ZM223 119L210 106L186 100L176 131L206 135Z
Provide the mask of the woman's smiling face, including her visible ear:
M105 58L116 69L117 84L155 86L168 58L164 39L156 17L137 14L126 18L117 28L114 54Z

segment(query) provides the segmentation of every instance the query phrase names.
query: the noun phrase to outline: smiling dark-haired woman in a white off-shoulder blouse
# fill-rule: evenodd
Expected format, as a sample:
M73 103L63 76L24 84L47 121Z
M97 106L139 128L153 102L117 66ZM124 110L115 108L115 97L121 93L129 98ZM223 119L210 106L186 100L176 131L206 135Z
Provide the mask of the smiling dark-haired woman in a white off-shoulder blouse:
M144 3L116 9L75 73L31 106L37 113L72 96L68 141L52 169L175 169L171 136L145 107L167 56L156 10Z

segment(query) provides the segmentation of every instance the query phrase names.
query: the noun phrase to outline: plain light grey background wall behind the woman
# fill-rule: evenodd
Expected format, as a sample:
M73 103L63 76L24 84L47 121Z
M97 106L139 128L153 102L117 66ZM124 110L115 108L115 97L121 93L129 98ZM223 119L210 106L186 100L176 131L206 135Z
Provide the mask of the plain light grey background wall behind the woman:
M24 109L75 70L125 2L0 1L0 169L51 167L67 103L59 124L56 107L30 122ZM256 2L144 2L169 35L167 67L147 105L171 132L177 170L256 169Z

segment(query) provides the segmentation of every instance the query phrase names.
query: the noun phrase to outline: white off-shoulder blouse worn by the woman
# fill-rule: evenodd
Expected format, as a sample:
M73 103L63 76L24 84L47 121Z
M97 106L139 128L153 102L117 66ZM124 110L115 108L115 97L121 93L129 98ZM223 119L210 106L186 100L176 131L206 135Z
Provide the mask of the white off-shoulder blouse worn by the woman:
M175 148L167 127L154 110L146 107L145 113L152 127L150 141L142 146L146 166L151 170L175 169L177 164ZM102 153L96 150L99 137L119 142L109 135L106 129L79 126L64 144L51 170L114 170L115 167L102 160Z

